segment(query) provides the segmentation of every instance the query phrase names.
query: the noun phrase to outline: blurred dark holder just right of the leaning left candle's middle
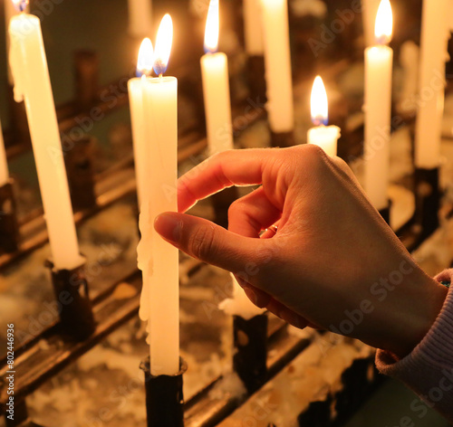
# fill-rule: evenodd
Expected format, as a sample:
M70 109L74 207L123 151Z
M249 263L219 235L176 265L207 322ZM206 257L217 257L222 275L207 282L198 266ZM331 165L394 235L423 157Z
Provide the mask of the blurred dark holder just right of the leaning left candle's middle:
M92 138L73 141L64 157L74 211L96 206L94 174L92 171Z

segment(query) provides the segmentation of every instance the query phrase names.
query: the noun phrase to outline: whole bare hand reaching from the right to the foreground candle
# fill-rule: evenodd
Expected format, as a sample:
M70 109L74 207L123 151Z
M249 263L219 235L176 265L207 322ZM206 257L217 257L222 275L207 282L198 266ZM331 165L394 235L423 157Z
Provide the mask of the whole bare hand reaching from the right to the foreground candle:
M228 231L177 213L159 215L155 228L235 273L256 305L294 326L408 354L447 291L416 265L340 158L314 145L218 154L178 180L179 212L227 186L258 184L231 205ZM275 235L260 238L275 223Z

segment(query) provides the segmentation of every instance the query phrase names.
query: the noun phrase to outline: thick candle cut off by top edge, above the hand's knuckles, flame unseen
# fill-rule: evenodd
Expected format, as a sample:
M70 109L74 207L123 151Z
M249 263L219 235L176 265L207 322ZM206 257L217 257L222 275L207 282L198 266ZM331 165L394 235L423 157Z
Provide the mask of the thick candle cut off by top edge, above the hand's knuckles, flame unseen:
M267 115L275 133L294 128L287 0L262 0Z

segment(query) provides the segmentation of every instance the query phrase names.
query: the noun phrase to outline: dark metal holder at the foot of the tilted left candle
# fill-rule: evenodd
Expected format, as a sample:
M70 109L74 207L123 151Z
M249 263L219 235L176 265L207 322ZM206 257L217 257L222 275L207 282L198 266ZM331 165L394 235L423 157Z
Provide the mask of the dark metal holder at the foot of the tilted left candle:
M53 292L64 333L80 341L90 337L96 324L84 266L72 270L56 270L52 261L46 261L46 267L51 270Z

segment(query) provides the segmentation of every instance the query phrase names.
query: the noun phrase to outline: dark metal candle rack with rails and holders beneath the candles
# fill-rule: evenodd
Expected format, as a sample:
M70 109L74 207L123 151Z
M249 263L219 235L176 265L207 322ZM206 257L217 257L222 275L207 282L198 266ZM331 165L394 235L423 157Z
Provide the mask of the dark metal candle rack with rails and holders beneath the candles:
M249 75L258 74L263 59L255 57L249 62ZM78 87L86 90L72 105L60 111L62 128L70 128L81 109L89 109L98 105L102 111L105 106L97 99L97 58L90 52L83 52L76 56ZM90 84L85 84L89 82ZM264 96L264 81L255 79L252 88L254 96ZM264 99L264 98L263 98ZM120 105L127 102L127 97L120 100ZM235 111L244 104L236 106ZM248 124L265 117L265 111L257 111L252 119L246 118ZM243 118L244 119L244 118ZM241 123L241 128L244 122ZM238 128L235 129L239 131ZM359 132L361 129L359 129ZM23 132L24 133L24 132ZM202 133L192 130L180 138L178 159L183 161L197 155L206 147L206 139L200 137ZM290 134L272 135L272 145L286 147L292 144ZM22 147L20 149L26 149ZM19 151L20 151L19 149ZM123 162L122 168L115 168L101 176L93 176L91 163L90 140L79 141L70 157L66 159L68 178L72 189L72 203L76 207L76 222L99 212L109 204L120 198L133 194L135 179L131 168L133 159L130 157ZM398 232L409 249L414 249L423 242L439 226L439 169L416 170L414 194L416 196L416 212ZM226 225L226 208L236 199L236 189L232 188L223 195L213 198L217 223ZM42 213L38 212L29 222L38 223L39 232L27 234L29 223L16 222L14 211L14 195L12 185L8 183L0 188L0 204L4 213L0 218L0 236L2 237L5 252L0 257L0 265L14 261L27 251L42 245L47 241ZM389 221L390 209L381 212ZM18 238L19 232L21 238ZM48 263L51 270L55 298L62 302L63 298L71 299L71 303L62 304L60 320L55 320L41 334L24 343L15 350L16 356L16 383L15 383L15 411L14 421L5 418L6 425L36 426L28 417L24 398L32 394L41 384L58 374L64 366L69 365L78 357L86 353L92 346L98 344L102 338L108 336L127 320L136 316L140 300L140 273L134 272L126 278L121 278L109 289L103 291L95 299L89 299L89 283L83 276L83 266L74 270L54 270L52 263ZM126 299L115 299L113 294L121 283L128 283L135 289L133 296ZM73 319L84 319L83 323ZM237 375L246 385L247 395L242 399L225 396L213 398L209 391L219 381L217 379L188 402L183 402L182 377L187 368L181 361L181 370L178 375L152 376L149 372L149 362L145 360L141 368L145 375L145 390L148 425L207 427L214 426L225 419L246 398L259 389L265 382L280 372L285 365L294 359L309 345L306 338L294 337L287 333L283 322L273 319L268 325L267 315L257 316L250 320L234 318L234 343L236 354L232 365ZM44 345L45 344L45 345ZM7 370L6 360L0 364L1 378L5 378ZM0 383L0 405L5 413L7 394L5 384Z

